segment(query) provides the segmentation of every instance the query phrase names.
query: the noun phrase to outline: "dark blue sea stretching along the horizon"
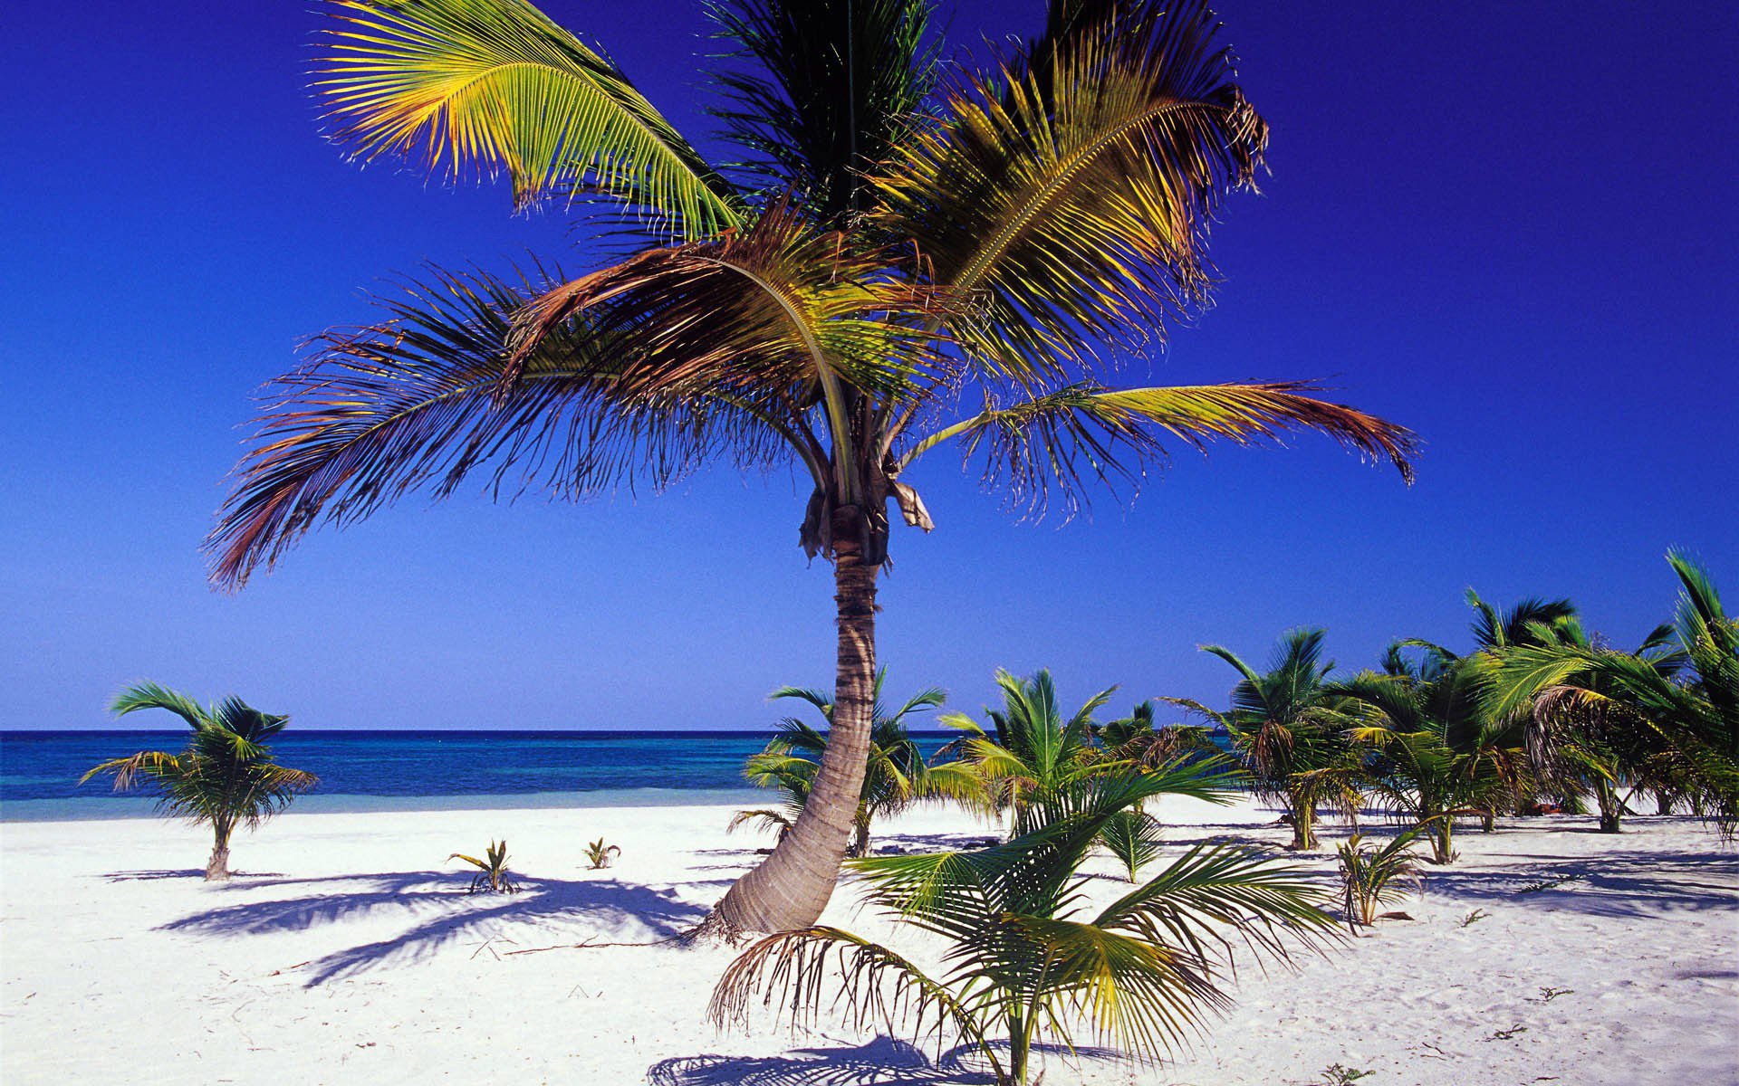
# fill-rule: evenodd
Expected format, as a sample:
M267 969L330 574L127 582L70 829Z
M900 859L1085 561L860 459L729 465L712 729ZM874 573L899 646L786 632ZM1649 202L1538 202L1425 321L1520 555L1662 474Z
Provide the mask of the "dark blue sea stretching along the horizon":
M956 733L918 733L925 754ZM285 732L282 765L320 777L299 811L741 803L755 732ZM153 801L78 785L106 758L184 745L186 732L0 732L0 820L129 818Z

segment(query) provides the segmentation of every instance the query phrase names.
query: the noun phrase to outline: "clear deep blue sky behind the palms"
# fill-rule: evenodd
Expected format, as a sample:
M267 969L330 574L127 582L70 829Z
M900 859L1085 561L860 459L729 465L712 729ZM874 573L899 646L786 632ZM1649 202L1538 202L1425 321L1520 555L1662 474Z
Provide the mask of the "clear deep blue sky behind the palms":
M113 726L139 679L308 728L767 726L769 690L833 674L790 474L412 497L207 587L254 396L304 335L426 261L603 255L499 186L348 163L306 90L310 7L7 19L0 728ZM697 2L544 9L716 146ZM1042 12L939 17L967 56ZM1669 613L1669 546L1739 594L1736 12L1226 0L1271 175L1214 231L1217 304L1127 379L1323 379L1421 434L1419 480L1299 438L1181 452L1129 506L1021 523L930 455L909 481L936 532L897 530L882 582L890 690L977 712L995 669L1050 667L1071 702L1223 704L1235 674L1200 645L1261 660L1323 626L1348 669L1400 636L1464 648L1469 586L1570 596L1626 646Z

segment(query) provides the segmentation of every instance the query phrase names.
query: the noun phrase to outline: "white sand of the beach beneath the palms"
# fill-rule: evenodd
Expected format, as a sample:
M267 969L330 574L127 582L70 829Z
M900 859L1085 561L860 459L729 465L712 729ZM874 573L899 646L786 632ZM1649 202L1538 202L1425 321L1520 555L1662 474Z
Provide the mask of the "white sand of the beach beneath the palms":
M243 876L221 886L198 877L209 839L183 824L0 824L0 1081L974 1081L836 1025L718 1034L703 1010L722 947L508 954L690 924L765 844L727 838L727 815L290 813L238 839ZM1160 815L1169 855L1203 836L1285 839L1254 806L1172 799ZM1179 1062L1050 1056L1045 1081L1303 1084L1341 1063L1374 1072L1369 1086L1739 1083L1739 853L1689 818L1636 818L1619 838L1591 827L1466 832L1462 860L1403 905L1412 923L1299 971L1240 973L1236 1010ZM960 813L920 811L878 843L970 832ZM1323 877L1343 832L1313 862ZM619 865L584 871L600 834L623 846ZM508 838L525 893L466 897L461 865L442 864L490 836ZM1475 909L1487 917L1461 926ZM849 886L826 919L890 933Z

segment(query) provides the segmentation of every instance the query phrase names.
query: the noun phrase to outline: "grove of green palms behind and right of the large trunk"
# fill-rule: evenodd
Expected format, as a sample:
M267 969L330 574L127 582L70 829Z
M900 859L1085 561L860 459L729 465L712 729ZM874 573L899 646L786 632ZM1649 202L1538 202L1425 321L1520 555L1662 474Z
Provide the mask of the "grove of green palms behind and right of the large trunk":
M1224 709L1162 697L1101 721L1096 712L1115 688L1064 712L1049 672L998 672L1003 704L986 711L988 725L943 714L962 737L929 761L904 719L944 695L923 690L889 714L876 676L852 855L870 855L875 815L913 803L962 803L1007 817L1010 836L1021 836L1049 798L1096 778L1183 766L1269 799L1292 825L1297 851L1318 846L1323 813L1356 824L1370 806L1426 839L1435 864L1456 860L1457 825L1494 832L1501 815L1586 813L1600 831L1621 832L1628 813L1682 811L1730 836L1739 829L1739 620L1696 561L1669 553L1668 563L1680 584L1676 612L1633 650L1591 632L1569 599L1499 608L1469 589L1468 653L1403 638L1376 666L1337 672L1323 629L1285 632L1261 667L1205 645L1236 674ZM828 712L814 692L774 697L802 697ZM1167 711L1177 721L1160 725ZM781 789L786 806L743 811L737 824L788 829L826 745L824 732L788 719L746 766L753 784ZM1127 811L1099 846L1134 881L1156 851L1156 832L1151 815Z

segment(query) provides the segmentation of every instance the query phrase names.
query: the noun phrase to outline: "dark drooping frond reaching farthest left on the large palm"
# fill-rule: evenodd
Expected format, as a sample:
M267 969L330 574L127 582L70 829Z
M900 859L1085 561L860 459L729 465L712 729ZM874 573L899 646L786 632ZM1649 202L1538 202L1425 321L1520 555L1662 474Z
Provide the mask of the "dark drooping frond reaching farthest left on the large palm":
M504 389L511 316L543 288L435 269L379 299L381 323L313 341L313 358L275 382L207 537L214 580L237 589L315 525L348 525L419 487L447 497L473 471L496 493L579 497L668 487L711 459L770 467L798 455L765 394L636 367L630 313L548 328Z

